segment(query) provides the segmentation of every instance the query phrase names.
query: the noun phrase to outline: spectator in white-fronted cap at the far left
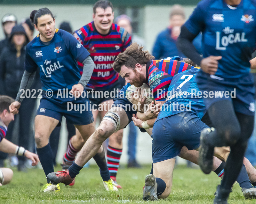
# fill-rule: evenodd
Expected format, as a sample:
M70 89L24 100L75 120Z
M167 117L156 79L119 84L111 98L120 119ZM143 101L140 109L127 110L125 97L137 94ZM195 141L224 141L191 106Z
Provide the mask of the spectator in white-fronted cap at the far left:
M11 35L12 28L17 24L17 18L13 14L6 14L2 18L2 27L5 35L5 39L0 41L0 55L4 47L8 43L8 38Z

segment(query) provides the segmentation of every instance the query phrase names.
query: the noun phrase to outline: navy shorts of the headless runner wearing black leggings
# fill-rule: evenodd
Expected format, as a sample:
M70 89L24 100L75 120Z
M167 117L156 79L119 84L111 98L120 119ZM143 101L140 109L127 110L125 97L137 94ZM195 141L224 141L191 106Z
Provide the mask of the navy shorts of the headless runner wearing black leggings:
M204 97L203 95L206 110L218 101L229 100L233 103L235 112L243 113L245 115L254 115L255 100L253 97L255 88L251 73L239 79L218 79L212 78L209 74L206 74L201 70L196 76L196 82L200 91L206 91L207 93L210 91L214 92L212 98L210 98L209 95L208 97ZM218 94L219 91L221 93L228 91L231 93L231 97L225 97L224 94L221 97L220 94ZM215 92L217 92L217 94L215 94Z

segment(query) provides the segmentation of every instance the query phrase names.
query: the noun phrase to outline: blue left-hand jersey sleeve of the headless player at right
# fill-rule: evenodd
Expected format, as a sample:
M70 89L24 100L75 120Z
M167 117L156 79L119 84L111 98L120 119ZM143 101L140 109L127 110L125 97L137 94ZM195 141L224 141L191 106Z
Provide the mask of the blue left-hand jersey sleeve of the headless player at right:
M186 28L190 33L193 33L194 35L198 35L200 31L204 30L205 22L204 22L204 9L203 4L204 2L199 2L197 4L197 7L191 14L191 16L188 18L188 20L185 23Z

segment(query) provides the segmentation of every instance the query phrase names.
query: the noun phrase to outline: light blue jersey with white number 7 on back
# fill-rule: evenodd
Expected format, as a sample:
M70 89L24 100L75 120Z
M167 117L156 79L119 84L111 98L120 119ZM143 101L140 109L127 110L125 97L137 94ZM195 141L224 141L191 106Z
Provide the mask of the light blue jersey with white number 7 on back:
M199 70L198 68L189 69L172 78L167 92L167 101L162 106L157 120L188 110L194 111L202 119L205 105L195 80Z

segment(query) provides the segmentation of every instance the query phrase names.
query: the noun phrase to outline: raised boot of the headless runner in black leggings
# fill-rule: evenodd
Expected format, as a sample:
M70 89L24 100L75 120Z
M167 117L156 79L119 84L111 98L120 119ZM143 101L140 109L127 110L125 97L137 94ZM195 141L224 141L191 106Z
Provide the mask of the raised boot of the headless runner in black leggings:
M214 128L204 128L200 135L200 150L198 157L198 165L205 174L212 171L214 146L207 143L206 136L213 131Z

